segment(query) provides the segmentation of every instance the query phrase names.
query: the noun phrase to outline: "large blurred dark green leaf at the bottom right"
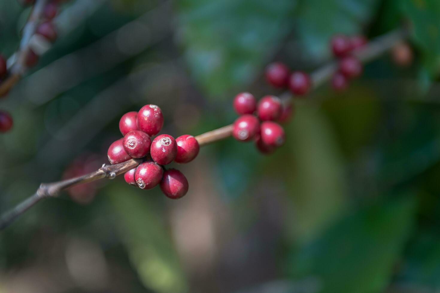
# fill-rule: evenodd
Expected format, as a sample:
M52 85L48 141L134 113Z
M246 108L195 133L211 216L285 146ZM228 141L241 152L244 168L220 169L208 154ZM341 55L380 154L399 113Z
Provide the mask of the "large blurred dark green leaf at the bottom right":
M394 195L345 217L292 259L294 279L314 277L327 293L382 292L413 227L412 194Z

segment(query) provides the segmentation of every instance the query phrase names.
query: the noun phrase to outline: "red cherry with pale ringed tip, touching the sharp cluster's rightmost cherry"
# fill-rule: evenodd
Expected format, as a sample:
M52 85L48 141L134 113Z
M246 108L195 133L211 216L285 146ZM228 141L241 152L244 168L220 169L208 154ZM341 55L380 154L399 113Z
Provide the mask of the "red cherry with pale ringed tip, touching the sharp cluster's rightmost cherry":
M177 155L177 144L174 137L161 134L154 138L150 148L151 158L159 165L171 163Z

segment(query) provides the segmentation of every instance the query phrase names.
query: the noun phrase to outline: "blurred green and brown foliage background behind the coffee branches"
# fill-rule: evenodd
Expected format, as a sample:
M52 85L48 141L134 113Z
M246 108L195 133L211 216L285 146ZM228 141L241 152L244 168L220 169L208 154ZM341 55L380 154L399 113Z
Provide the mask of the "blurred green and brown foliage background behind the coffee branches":
M28 14L0 1L2 54ZM0 101L15 118L0 211L81 158L106 163L119 118L142 105L175 137L231 123L238 92L280 93L265 65L310 72L335 33L406 24L414 62L385 54L345 93L295 100L272 156L231 138L202 148L176 166L183 199L117 178L79 190L97 191L86 205L39 203L0 232L1 293L438 292L438 0L71 0L55 24L59 40Z

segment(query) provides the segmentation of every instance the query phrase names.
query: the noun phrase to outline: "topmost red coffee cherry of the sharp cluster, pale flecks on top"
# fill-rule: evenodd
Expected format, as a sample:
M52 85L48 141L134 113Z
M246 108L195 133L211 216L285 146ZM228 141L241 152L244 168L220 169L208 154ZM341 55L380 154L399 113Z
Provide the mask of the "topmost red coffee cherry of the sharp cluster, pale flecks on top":
M158 134L164 125L161 109L151 104L143 106L138 112L137 125L139 130L150 136Z

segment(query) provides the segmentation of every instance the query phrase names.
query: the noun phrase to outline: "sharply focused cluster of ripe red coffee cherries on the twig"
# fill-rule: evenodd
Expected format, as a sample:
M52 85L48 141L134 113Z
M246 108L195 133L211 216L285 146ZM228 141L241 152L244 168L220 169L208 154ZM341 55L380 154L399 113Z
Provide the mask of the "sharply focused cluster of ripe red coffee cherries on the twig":
M164 117L157 105L145 105L139 112L125 113L119 121L119 130L124 135L110 145L107 156L111 164L128 159L145 159L136 168L124 174L128 184L142 189L160 185L162 192L171 199L178 199L188 191L187 178L176 169L165 169L165 165L191 162L198 154L198 141L192 135L182 135L174 139L171 135L160 134L153 141L150 137L158 134Z

